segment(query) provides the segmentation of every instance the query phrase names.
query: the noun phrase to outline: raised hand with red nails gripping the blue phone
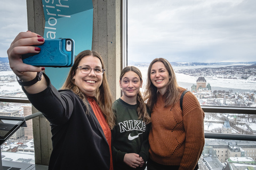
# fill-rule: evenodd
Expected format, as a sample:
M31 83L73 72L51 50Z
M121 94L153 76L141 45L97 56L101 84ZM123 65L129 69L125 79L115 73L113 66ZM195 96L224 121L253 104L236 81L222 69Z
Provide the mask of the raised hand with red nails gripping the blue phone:
M39 53L40 48L33 45L42 45L44 38L34 32L20 32L7 50L9 64L12 71L22 80L30 81L36 77L36 72L44 70L44 67L36 67L22 62L22 54Z

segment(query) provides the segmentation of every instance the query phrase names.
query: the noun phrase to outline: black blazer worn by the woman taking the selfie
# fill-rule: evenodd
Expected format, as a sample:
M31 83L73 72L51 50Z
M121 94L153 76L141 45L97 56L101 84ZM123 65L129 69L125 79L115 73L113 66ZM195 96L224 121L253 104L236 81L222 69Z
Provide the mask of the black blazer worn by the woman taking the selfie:
M28 94L31 104L51 123L53 150L49 169L106 169L110 167L108 142L89 105L71 90L49 86L38 94ZM43 145L43 144L42 144Z

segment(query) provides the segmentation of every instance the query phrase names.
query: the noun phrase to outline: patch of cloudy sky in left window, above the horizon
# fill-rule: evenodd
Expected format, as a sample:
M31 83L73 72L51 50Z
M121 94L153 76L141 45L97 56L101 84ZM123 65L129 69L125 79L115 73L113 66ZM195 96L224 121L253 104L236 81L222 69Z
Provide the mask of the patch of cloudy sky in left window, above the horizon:
M7 57L13 39L28 30L26 0L2 0L0 23L0 57Z

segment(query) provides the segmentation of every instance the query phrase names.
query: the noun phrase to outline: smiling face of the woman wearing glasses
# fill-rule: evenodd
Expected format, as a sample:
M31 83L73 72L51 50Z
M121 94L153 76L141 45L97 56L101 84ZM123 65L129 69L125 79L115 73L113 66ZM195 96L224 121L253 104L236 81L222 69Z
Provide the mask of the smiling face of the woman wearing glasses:
M92 55L82 58L78 66L87 65L92 68L89 74L83 74L80 69L76 69L76 73L73 77L76 86L82 90L82 92L87 96L95 96L96 91L102 84L103 75L95 75L95 68L102 68L102 64L98 57L93 57Z

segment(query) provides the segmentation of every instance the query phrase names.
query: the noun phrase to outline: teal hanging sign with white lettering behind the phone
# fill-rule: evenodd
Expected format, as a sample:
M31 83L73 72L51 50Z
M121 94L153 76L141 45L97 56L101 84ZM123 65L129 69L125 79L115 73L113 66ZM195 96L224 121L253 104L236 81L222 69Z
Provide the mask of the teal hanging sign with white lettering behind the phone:
M85 49L92 49L92 0L42 0L45 27L44 38L71 38L75 41L75 56ZM45 73L53 86L60 89L70 67L46 67Z

